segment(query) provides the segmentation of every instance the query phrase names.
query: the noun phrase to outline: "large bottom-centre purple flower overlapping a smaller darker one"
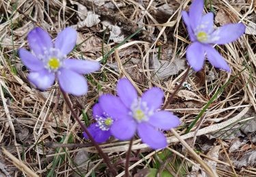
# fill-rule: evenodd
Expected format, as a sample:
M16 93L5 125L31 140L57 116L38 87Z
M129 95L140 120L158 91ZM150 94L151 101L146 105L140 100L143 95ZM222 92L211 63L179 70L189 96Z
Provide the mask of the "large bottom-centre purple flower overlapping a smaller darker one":
M111 134L119 140L129 140L138 133L141 140L151 148L165 148L167 140L158 129L171 129L180 125L180 120L171 112L160 110L164 93L160 88L151 88L141 98L134 86L126 79L119 80L117 94L106 94L99 98L104 112L115 118Z

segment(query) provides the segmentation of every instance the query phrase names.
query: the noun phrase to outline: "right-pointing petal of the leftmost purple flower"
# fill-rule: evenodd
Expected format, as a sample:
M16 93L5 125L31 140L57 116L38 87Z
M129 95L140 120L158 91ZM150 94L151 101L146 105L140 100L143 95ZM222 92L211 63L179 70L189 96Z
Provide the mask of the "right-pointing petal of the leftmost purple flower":
M64 60L66 69L70 69L79 74L89 74L100 69L98 61L66 59Z

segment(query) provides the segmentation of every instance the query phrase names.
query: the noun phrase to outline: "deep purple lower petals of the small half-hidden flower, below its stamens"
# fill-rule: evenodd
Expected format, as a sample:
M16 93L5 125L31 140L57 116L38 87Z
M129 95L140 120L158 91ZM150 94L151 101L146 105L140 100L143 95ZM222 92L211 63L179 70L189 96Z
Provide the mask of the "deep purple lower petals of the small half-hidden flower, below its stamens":
M88 127L88 131L91 134L91 136L94 138L94 140L98 143L106 142L106 140L109 140L111 136L111 131L102 131L98 126L96 126L97 123L93 123ZM85 132L83 132L83 136L85 139L89 140L89 137Z

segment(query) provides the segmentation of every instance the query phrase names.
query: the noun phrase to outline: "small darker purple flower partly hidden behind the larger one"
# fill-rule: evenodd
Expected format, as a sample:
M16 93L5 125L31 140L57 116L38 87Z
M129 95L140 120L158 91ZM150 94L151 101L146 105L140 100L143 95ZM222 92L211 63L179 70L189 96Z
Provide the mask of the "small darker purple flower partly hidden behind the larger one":
M96 103L92 110L96 123L91 124L88 131L96 142L106 142L111 136L110 128L114 120L100 108L99 103ZM86 133L83 133L83 136L89 139Z

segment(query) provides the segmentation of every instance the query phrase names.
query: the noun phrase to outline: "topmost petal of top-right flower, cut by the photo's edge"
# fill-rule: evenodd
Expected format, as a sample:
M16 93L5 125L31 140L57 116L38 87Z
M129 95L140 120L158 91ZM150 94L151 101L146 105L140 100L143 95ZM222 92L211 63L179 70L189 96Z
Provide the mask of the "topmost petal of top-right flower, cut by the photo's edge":
M203 0L194 0L191 3L188 16L192 29L196 29L203 16Z

